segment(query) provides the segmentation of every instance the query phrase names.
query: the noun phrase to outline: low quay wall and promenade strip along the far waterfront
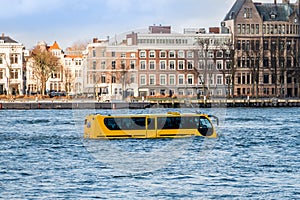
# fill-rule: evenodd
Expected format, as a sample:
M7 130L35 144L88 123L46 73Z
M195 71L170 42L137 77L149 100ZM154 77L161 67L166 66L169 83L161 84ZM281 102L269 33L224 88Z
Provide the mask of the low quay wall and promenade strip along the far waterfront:
M300 99L133 99L101 102L92 99L2 99L0 110L17 109L144 109L144 108L210 108L210 107L300 107Z

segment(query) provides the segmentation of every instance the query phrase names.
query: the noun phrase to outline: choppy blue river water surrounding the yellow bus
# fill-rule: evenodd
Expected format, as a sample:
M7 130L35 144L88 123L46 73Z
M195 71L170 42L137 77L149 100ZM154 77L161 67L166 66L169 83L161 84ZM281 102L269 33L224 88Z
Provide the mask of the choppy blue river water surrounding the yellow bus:
M87 141L95 111L2 110L0 198L300 198L299 108L204 111L218 139Z

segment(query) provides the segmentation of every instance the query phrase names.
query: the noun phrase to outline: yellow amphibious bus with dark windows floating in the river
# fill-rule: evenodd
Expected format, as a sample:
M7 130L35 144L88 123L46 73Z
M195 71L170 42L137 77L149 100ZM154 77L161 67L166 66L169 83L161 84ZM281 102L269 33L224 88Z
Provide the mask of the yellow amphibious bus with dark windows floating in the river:
M84 137L91 139L183 138L203 136L216 138L212 115L179 112L166 114L128 114L86 116Z

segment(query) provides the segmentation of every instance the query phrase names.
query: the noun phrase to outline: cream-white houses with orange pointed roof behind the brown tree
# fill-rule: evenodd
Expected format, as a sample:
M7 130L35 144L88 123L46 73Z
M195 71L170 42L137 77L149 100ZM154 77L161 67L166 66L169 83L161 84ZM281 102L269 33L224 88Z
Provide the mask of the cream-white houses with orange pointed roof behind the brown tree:
M41 48L50 51L52 55L59 60L58 69L51 73L51 76L46 82L46 93L60 93L67 94L81 94L83 93L83 57L82 53L72 54L70 52L64 53L55 41L48 46L46 42L39 42L37 44ZM26 62L26 93L40 94L41 83L35 76L33 69L34 61L28 55Z

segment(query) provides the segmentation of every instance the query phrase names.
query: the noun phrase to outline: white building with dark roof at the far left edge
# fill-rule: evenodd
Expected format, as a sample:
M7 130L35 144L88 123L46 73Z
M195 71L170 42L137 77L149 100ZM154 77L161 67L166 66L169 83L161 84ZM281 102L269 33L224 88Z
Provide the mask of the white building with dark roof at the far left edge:
M24 46L2 34L0 37L0 95L22 95Z

